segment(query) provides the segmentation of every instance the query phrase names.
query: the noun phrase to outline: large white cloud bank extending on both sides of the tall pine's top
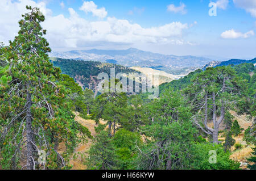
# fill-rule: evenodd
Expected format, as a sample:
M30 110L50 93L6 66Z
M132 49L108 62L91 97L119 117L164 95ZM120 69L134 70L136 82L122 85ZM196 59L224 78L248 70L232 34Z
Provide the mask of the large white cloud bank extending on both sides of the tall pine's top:
M18 21L21 14L27 12L26 5L38 6L46 13L42 27L47 30L46 38L53 49L96 47L97 45L129 45L135 44L191 44L183 40L187 23L172 22L160 27L143 28L126 19L106 18L90 22L81 18L75 10L69 8L69 17L52 16L45 3L31 0L0 1L0 41L8 44L18 34Z

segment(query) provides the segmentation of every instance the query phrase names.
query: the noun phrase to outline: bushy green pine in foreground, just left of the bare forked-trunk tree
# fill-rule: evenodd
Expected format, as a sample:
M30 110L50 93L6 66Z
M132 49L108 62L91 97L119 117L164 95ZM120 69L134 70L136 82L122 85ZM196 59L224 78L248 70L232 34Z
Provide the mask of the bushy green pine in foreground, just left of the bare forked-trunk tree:
M137 169L188 169L196 129L189 121L191 113L184 99L167 90L148 109L152 121L144 127L144 134L151 140L139 149Z

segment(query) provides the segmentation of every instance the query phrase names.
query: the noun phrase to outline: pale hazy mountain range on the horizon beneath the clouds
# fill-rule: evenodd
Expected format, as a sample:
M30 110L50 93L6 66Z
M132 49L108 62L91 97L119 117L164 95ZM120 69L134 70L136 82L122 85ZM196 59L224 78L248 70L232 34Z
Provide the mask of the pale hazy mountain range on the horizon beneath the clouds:
M201 67L212 61L210 58L195 56L174 56L146 52L129 48L126 50L72 50L68 52L53 52L51 57L69 58L85 61L100 61L123 66L163 66L167 69L182 69Z

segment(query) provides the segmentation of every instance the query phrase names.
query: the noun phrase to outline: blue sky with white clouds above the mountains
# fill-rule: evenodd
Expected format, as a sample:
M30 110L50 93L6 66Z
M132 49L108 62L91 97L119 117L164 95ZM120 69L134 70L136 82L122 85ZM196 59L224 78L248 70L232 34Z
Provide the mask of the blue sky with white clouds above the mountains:
M256 57L256 0L0 0L0 42L26 5L46 16L53 51L138 48L178 56Z

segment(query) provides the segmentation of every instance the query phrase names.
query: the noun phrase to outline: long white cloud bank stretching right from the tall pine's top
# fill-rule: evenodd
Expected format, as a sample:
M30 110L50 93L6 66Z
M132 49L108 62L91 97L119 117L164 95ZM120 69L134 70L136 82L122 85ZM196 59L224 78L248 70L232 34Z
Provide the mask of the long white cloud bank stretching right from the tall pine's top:
M48 30L48 40L55 47L85 47L88 43L169 43L181 37L187 24L172 22L160 27L143 28L125 19L107 18L88 22L69 9L70 17L52 17L43 23Z

